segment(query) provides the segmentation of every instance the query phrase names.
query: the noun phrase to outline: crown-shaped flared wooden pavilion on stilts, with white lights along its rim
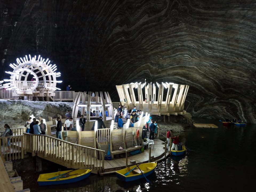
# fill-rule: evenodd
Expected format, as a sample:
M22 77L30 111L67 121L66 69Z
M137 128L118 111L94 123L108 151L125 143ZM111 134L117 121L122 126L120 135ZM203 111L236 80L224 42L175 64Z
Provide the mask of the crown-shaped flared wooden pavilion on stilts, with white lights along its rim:
M117 92L122 105L126 105L128 109L133 109L150 113L151 115L178 115L185 114L184 103L189 90L189 85L180 85L175 83L158 83L158 94L156 94L156 86L153 83L130 83L116 85ZM145 88L144 88L145 87ZM143 98L142 88L145 89L145 98ZM135 89L138 91L135 97ZM166 98L163 98L164 89L167 89ZM164 96L165 97L165 96ZM138 101L136 100L138 98Z

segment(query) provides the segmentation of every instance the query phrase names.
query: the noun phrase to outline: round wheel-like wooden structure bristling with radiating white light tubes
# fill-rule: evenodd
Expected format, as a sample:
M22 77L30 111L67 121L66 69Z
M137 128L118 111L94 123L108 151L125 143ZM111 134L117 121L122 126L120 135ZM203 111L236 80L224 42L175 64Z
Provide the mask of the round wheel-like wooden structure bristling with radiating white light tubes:
M38 57L29 55L29 58L25 55L23 58L17 58L16 64L10 64L13 71L5 71L11 76L10 79L4 79L4 81L10 83L0 86L0 89L15 90L13 96L29 94L53 96L55 90L61 90L56 85L62 81L57 81L56 78L60 77L61 73L55 72L57 66L50 64L50 62L48 58L45 60L40 55Z

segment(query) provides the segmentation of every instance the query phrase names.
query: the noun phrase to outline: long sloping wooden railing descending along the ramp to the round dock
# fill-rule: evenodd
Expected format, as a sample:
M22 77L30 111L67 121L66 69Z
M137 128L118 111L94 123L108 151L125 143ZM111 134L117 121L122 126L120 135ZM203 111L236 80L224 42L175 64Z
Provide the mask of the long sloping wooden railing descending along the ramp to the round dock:
M67 167L104 171L105 151L77 145L48 135L25 133L25 150Z

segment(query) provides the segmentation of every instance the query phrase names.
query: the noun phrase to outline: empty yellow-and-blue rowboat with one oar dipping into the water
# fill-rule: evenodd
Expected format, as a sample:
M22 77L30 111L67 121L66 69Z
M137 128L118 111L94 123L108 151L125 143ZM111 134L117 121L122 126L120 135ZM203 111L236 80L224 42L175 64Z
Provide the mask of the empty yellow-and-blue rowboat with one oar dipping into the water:
M142 163L139 165L139 168L143 171L143 174L145 176L148 176L154 172L156 166L157 166L157 162ZM138 167L137 167L137 169L134 169L128 175L125 176L125 173L129 172L134 167L137 167L137 166L134 165L131 167L126 167L125 169L121 169L119 171L116 171L115 173L116 173L117 177L119 179L121 179L122 181L134 181L137 179L144 178L144 176L141 174L141 171L138 169Z

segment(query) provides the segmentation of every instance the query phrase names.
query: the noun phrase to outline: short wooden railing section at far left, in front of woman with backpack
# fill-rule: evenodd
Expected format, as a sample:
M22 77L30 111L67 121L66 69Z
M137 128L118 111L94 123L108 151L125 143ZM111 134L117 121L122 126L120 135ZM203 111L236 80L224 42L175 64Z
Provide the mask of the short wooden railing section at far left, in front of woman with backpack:
M23 139L24 135L0 137L1 152L4 156L6 156L6 161L23 159ZM8 141L10 144L10 150L8 148Z

